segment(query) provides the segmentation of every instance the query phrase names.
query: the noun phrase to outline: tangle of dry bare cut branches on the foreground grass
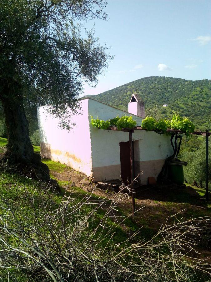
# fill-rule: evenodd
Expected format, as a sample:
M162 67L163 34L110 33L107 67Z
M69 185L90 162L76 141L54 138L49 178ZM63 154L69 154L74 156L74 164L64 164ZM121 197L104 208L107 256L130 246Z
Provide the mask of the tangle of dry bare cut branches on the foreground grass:
M48 190L41 197L26 192L24 209L1 201L0 267L8 277L11 270L24 271L40 281L209 279L209 262L194 253L201 223L210 216L182 221L176 214L150 240L139 229L121 241L115 233L127 217L118 209L120 193L108 201L66 191L56 203Z

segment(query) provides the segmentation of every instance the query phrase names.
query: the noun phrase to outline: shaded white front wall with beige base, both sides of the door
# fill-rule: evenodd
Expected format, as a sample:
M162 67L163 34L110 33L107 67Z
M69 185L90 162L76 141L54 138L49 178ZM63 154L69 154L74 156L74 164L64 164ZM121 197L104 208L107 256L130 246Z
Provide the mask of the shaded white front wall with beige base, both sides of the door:
M89 120L91 123L91 116L107 120L114 118L117 115L130 115L127 112L123 112L116 108L110 107L103 103L99 103L94 100L89 100ZM138 125L141 125L143 118L132 115L133 119L137 121ZM91 133L91 145L92 145L92 160L93 160L93 176L95 180L112 180L120 179L120 149L119 143L129 141L129 134L126 132L108 131L93 128L90 126ZM147 184L148 176L157 177L157 172L162 169L162 162L152 163L154 166L152 175L147 175L146 167L150 167L148 161L164 160L167 155L173 154L173 150L170 143L170 137L166 135L159 135L158 133L149 131L138 131L135 130L132 134L133 140L139 140L134 146L135 160L138 162L145 162L144 165L144 176L142 177L142 184ZM103 171L103 179L99 179L102 174L99 173L100 168ZM141 169L141 167L140 167ZM96 175L95 175L96 171Z

